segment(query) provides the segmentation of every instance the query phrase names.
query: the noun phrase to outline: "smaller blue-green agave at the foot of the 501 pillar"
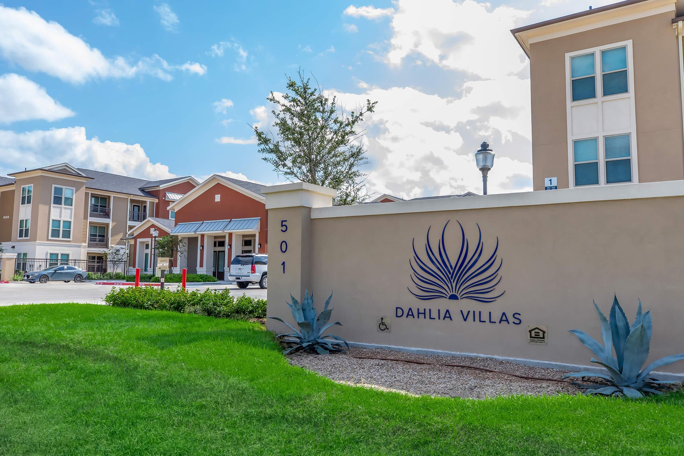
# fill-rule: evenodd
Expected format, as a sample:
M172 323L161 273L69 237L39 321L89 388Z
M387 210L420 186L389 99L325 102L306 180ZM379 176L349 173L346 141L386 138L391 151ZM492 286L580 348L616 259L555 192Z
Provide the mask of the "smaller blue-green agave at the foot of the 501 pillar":
M315 350L317 353L321 353L321 355L330 353L330 351L342 351L342 343L349 348L347 341L341 337L333 336L332 334L326 334L325 336L321 335L332 325L342 325L339 321L328 323L330 314L332 314L332 308L328 308L330 299L332 299L332 293L330 293L330 296L326 301L326 306L320 314L316 314L316 308L313 306L313 293L309 295L308 290L304 291L304 300L302 301L302 304L300 304L293 295L290 295L290 298L292 299L292 304L289 302L286 304L290 306L292 317L294 317L297 325L300 327L299 330L295 330L287 321L283 321L278 317L268 317L269 319L282 321L282 323L285 323L294 331L286 334L278 334L277 336L289 336L298 340L295 342L296 345L294 347L285 351L286 355L287 353L298 349ZM332 338L332 340L330 340L330 338Z

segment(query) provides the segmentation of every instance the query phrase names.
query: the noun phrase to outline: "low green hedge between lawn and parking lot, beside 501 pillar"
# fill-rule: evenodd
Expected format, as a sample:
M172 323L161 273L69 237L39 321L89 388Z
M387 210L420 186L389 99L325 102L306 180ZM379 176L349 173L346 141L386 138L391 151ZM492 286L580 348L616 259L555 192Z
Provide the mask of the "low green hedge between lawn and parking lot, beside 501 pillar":
M216 318L266 317L266 300L247 295L235 297L226 290L186 291L158 289L153 286L112 288L105 296L109 306L144 310L172 310Z

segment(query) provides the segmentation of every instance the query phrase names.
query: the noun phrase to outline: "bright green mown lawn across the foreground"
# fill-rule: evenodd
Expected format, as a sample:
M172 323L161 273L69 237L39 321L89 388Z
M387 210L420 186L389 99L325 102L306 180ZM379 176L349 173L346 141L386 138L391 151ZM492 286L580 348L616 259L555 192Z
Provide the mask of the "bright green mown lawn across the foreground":
M410 397L289 366L246 321L0 307L0 455L681 455L683 405Z

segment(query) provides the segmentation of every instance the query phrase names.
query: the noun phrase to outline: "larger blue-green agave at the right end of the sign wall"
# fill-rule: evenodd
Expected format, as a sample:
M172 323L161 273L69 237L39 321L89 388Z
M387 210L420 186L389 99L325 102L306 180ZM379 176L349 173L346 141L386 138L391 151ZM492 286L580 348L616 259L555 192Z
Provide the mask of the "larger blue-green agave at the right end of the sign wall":
M651 318L650 310L642 314L641 301L639 301L637 315L631 326L627 317L624 316L617 296L614 297L613 306L610 309L610 321L605 318L595 302L594 308L596 308L599 320L601 320L603 345L596 342L586 332L580 330L570 332L594 352L596 358L599 359L592 358L592 362L601 364L606 368L607 373L597 371L575 372L565 375L563 378L599 377L606 380L609 385L576 385L586 388L586 394L605 394L607 396L624 394L624 396L632 398L642 397L644 393L662 394L659 391L663 388L662 384L674 383L674 381L655 379L650 375L650 372L655 368L684 360L684 353L660 358L642 369L642 365L648 358ZM613 347L615 347L615 356L613 356Z

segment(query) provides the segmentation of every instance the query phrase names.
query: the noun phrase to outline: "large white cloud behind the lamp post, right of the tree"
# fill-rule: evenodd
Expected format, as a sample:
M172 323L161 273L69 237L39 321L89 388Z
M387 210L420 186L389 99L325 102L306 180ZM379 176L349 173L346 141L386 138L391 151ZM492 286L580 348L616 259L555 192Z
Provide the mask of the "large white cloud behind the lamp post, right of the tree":
M506 137L518 129L498 112L505 111L502 107L476 102L483 97L480 92L491 89L491 85L472 85L462 98L441 98L413 88L338 93L350 109L367 98L378 101L376 112L367 114L369 134L363 139L371 160L369 191L402 198L482 191L474 158L479 142L492 142L492 135ZM497 115L488 116L487 110ZM531 163L509 157L510 147L492 146L497 159L490 172L490 193L531 190Z

